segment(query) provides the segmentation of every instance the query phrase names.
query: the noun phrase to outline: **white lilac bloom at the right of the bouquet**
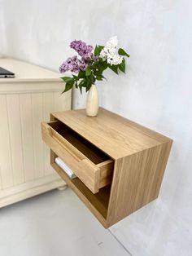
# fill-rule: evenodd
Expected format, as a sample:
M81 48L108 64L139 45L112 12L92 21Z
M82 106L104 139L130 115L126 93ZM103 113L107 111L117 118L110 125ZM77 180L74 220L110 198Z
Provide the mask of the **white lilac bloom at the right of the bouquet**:
M118 41L116 37L110 38L106 46L100 52L100 58L103 60L107 60L108 64L118 65L124 60L122 56L116 54L116 47L118 45Z

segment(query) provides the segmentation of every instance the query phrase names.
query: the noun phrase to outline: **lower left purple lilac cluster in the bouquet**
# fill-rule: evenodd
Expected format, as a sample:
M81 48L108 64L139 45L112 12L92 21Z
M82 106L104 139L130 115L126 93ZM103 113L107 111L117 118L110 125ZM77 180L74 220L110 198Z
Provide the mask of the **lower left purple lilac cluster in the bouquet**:
M60 73L64 73L66 71L72 71L74 73L79 73L80 70L85 71L87 68L87 64L84 60L79 60L77 56L73 56L72 58L68 58L68 60L64 61L63 64L59 67Z

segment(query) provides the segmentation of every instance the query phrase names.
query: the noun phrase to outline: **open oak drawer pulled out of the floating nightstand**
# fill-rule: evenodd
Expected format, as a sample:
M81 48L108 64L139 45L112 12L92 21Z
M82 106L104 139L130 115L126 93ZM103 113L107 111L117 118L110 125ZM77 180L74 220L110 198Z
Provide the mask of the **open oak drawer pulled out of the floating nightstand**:
M114 161L63 122L42 122L41 133L44 142L91 192L111 183Z

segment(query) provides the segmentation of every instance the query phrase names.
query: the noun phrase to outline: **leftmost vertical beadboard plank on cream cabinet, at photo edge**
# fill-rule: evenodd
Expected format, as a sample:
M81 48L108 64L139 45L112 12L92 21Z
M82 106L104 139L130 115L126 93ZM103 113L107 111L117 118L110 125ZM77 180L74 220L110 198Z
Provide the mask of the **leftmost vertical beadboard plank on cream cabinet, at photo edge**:
M13 186L10 135L7 117L7 96L0 95L0 170L2 188Z

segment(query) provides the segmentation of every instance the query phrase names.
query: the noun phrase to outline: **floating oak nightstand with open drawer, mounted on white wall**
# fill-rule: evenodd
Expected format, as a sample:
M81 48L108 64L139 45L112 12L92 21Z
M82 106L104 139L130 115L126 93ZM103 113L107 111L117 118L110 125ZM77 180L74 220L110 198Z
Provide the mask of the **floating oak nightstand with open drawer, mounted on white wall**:
M86 117L85 110L51 113L41 130L51 165L104 227L158 196L172 139L103 108L98 117Z

